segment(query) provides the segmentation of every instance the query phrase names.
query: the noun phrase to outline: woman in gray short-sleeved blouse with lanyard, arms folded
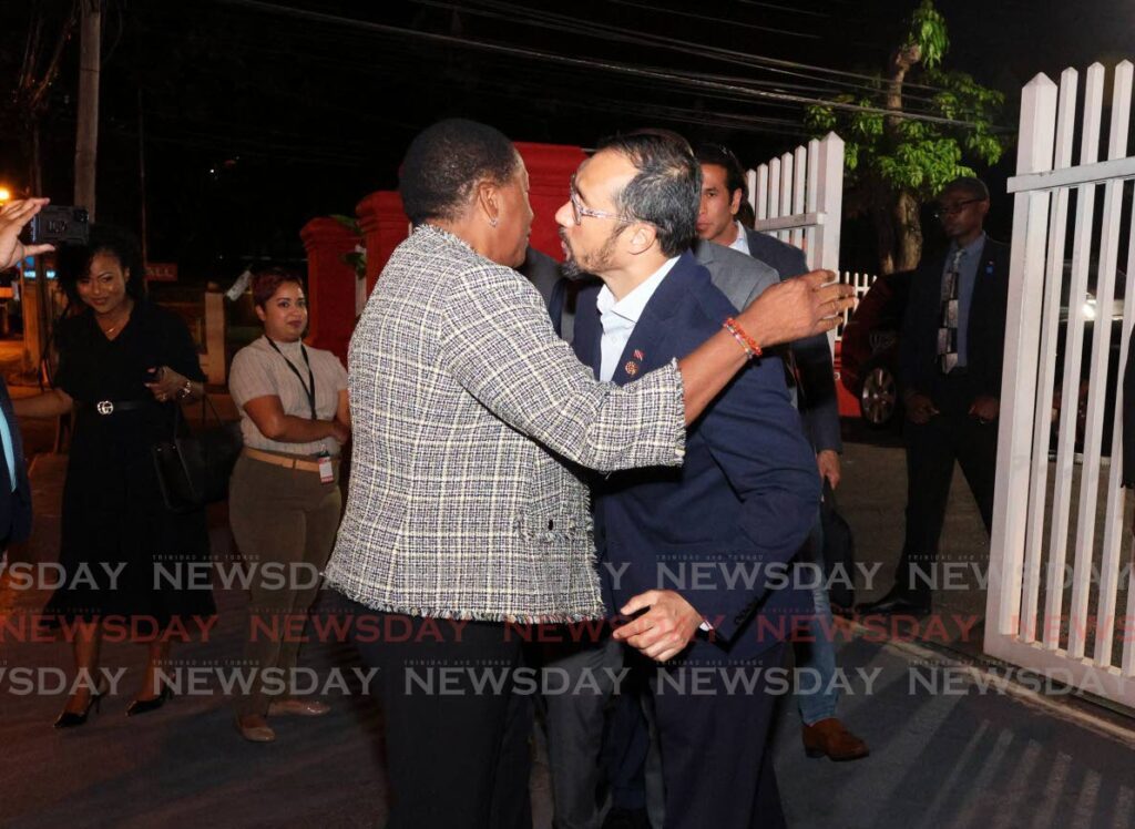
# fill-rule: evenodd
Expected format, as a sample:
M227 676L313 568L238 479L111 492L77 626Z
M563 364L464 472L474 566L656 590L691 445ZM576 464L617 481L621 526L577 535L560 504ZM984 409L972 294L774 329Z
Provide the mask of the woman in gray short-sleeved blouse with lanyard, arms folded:
M252 296L264 336L236 353L228 384L244 436L229 521L253 571L249 616L255 619L245 659L257 683L237 700L236 727L245 739L269 743L276 739L269 715L328 710L286 693L300 651L287 618L305 616L319 593L343 503L338 459L351 414L343 363L303 343L308 301L300 277L261 271L252 278Z

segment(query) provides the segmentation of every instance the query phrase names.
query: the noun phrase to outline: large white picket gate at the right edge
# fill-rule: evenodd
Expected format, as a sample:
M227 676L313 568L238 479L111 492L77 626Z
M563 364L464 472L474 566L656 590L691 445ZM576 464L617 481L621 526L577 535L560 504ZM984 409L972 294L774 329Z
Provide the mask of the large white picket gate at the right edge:
M1124 61L1111 78L1103 161L1101 65L1087 69L1079 106L1074 69L1059 89L1037 75L1022 95L1017 176L1008 187L1012 258L985 650L1135 707L1135 579L1118 414L1135 323L1132 69Z

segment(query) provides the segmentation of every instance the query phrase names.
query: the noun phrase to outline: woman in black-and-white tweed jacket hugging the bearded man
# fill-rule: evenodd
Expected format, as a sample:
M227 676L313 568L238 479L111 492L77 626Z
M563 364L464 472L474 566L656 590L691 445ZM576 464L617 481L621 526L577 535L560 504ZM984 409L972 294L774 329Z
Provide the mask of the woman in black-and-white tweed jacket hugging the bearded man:
M581 468L681 464L686 424L746 354L722 333L623 388L597 382L512 269L532 219L528 174L491 127L426 129L401 193L415 231L351 341L354 454L327 578L380 668L388 826L523 824L527 767L503 796L497 771L520 660L508 623L604 614ZM821 280L776 286L740 324L763 344L822 329L843 292ZM377 621L365 634L364 616ZM508 730L527 737L522 721Z

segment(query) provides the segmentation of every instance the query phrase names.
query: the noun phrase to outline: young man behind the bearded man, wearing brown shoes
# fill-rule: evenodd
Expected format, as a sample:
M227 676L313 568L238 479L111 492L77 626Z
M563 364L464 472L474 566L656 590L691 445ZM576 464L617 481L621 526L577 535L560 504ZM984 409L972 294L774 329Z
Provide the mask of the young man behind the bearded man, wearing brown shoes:
M737 218L745 201L745 174L740 161L728 148L703 144L697 151L701 165L701 201L698 212L698 236L716 242L732 253L741 253L773 269L780 278L800 276L807 269L804 251L758 231L746 228ZM704 242L707 244L708 242ZM753 301L743 287L726 286L716 278L720 287L738 308ZM759 291L757 292L759 293ZM827 336L808 337L790 346L790 380L797 408L804 421L805 434L816 452L816 466L824 482L834 491L840 483L839 401L835 395L835 372ZM801 551L801 560L815 567L823 566L823 528L819 517ZM825 633L832 629L831 603L827 588L814 588L816 619L810 626L810 642L797 647L797 663L817 671L818 689L800 694L798 704L802 721L801 739L810 756L827 756L835 761L858 760L868 754L867 744L852 734L835 717L839 702L835 676L835 647Z

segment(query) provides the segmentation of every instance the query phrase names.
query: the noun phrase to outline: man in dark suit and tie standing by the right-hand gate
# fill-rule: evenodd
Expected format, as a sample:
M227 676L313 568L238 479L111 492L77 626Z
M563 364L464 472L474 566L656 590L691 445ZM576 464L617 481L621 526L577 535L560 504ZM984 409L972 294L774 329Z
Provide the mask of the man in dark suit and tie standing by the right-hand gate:
M928 613L957 460L990 530L997 471L1009 248L983 231L989 189L958 178L939 195L950 240L910 283L899 346L907 422L907 528L894 587L865 612Z

